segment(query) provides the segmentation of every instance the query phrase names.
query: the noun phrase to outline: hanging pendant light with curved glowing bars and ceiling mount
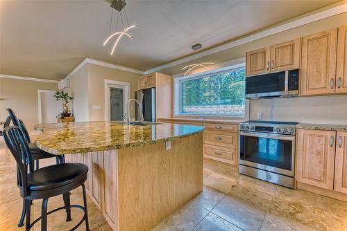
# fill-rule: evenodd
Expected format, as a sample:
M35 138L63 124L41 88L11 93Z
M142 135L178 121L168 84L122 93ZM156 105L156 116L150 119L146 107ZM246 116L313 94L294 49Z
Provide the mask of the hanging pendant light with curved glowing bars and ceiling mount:
M112 35L109 35L108 38L103 42L103 46L105 46L108 41L110 41L110 39L112 37L115 37L117 35L118 38L116 39L115 41L115 44L113 45L112 47L112 50L111 50L111 55L113 55L113 53L115 52L115 48L117 46L117 44L119 43L119 40L121 39L121 37L123 35L126 35L128 36L130 39L133 39L133 36L129 35L128 34L128 30L130 30L131 28L135 28L137 27L137 25L133 25L133 26L130 26L129 25L129 21L128 21L128 16L126 15L126 10L124 9L124 17L126 19L126 23L128 25L128 27L126 28L126 25L124 25L124 20L123 20L123 16L121 14L121 10L123 10L123 8L126 6L126 1L125 0L113 0L112 3L111 3L111 8L112 8L112 13L111 13L111 20L110 20L110 34L111 34L111 28L112 28L112 17L113 17L113 11L114 9L115 10L118 10L118 15L117 15L117 24L116 24L116 31L118 29L118 22L119 22L119 17L121 18L121 25L123 26L123 31L118 31L116 33L113 33Z

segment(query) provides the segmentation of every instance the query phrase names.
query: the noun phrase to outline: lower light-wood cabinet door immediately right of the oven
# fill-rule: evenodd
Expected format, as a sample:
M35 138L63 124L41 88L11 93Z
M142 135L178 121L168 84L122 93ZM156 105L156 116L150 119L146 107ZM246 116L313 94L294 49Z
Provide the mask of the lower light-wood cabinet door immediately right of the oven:
M298 129L296 181L332 190L335 131Z

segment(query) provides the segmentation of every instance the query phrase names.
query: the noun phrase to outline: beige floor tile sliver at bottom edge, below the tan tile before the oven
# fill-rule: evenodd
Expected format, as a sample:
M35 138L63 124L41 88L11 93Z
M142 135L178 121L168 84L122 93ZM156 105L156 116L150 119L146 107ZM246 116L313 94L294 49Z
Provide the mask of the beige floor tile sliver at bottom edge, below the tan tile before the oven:
M282 216L266 214L260 231L314 231L314 229Z

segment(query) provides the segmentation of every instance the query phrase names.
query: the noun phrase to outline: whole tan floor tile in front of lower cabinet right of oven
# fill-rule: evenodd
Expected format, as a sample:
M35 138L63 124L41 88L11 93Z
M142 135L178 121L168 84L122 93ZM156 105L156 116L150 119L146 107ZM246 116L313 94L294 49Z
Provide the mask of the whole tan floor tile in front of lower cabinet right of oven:
M317 194L302 190L279 189L273 196L269 213L315 230L325 230L322 197Z

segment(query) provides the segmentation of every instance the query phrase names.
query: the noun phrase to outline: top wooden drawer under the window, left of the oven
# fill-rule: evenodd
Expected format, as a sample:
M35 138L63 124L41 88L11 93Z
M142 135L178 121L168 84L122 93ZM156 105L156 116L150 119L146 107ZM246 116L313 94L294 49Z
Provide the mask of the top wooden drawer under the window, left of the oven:
M230 135L225 135L224 133L212 133L209 131L205 131L204 142L205 144L235 149L237 147L237 134L230 133Z

